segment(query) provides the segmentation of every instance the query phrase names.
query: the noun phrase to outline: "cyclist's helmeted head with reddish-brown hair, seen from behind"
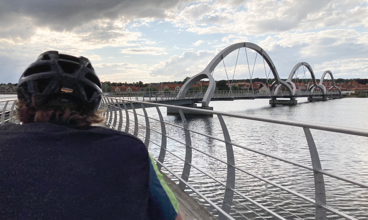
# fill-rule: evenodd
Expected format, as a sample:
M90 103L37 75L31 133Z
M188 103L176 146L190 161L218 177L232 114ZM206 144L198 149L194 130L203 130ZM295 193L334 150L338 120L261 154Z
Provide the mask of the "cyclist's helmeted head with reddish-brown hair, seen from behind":
M42 53L18 82L18 117L22 123L67 126L99 123L101 82L85 57Z

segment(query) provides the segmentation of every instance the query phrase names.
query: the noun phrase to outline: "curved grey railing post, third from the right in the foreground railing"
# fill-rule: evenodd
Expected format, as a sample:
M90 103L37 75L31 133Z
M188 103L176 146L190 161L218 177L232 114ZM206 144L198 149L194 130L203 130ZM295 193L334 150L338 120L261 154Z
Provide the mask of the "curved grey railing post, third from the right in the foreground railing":
M185 161L184 161L184 167L183 167L183 173L181 174L181 178L185 181L188 182L189 179L189 175L190 175L190 168L191 168L191 163L192 163L192 140L190 138L190 132L188 131L188 123L187 120L185 119L183 110L179 109L179 114L181 117L181 121L183 123L183 127L184 127L184 135L185 135ZM179 188L184 190L185 189L185 184L183 181L179 182Z

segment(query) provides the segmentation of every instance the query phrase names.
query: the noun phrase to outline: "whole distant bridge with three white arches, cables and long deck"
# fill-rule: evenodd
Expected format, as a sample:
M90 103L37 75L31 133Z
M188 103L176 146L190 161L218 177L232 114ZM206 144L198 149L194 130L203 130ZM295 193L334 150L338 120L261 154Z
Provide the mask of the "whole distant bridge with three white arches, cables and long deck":
M232 52L238 52L232 76L234 79L234 75L236 74L237 70L237 63L238 60L240 60L239 54L241 49L245 50L247 65L243 66L243 68L240 68L240 71L244 73L244 67L245 70L249 71L250 85L252 85L252 78L254 78L254 75L256 75L257 70L263 71L264 68L265 75L263 76L265 76L265 78L267 79L265 87L269 91L254 91L255 88L251 88L250 86L246 88L248 91L231 91L231 86L229 92L215 91L216 81L213 78L213 74L215 74L215 68L221 62L223 63L224 72L226 73L226 77L228 79L227 81L229 85L231 85L229 80L229 77L231 78L231 74L227 73L224 59ZM247 50L250 50L250 52L256 54L254 61L250 60L250 54L248 55ZM258 60L261 60L258 61L258 64L257 55L259 55ZM302 70L299 72L301 68ZM272 75L270 75L271 72ZM301 76L302 83L304 83L306 86L306 88L303 89L305 91L301 91L301 89L298 89L298 86L296 85L299 82L298 74L299 76ZM308 80L309 82L307 81L307 78L309 78L307 77L307 75L310 75L310 79ZM190 88L202 79L209 80L208 89L205 92L190 91ZM268 85L269 80L273 80L272 84L270 85ZM203 71L188 79L188 81L184 83L184 85L178 92L122 92L112 94L112 96L129 100L157 103L168 103L168 101L176 100L176 102L171 102L170 104L190 104L199 102L202 103L202 107L208 107L211 100L271 99L270 104L296 104L297 102L295 99L297 97L308 97L309 100L327 100L327 98L342 98L341 89L336 86L335 79L333 78L333 74L331 71L324 71L321 79L319 80L319 82L317 82L311 65L309 65L307 62L300 62L292 68L289 77L286 79L286 81L284 81L280 78L276 67L273 64L273 61L265 52L265 50L263 50L258 45L249 42L235 43L223 49L210 61L210 63ZM289 98L290 102L278 102L277 98Z

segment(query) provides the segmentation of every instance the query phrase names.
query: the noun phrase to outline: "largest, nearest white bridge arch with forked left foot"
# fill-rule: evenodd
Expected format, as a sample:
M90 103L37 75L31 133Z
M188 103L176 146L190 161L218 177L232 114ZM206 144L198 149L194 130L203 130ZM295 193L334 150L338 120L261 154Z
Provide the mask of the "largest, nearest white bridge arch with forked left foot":
M211 73L213 72L213 70L215 70L216 66L227 56L229 55L231 52L233 52L234 50L240 49L240 48L249 48L254 50L255 52L259 53L266 61L266 63L269 65L273 76L275 77L275 82L273 82L273 85L275 84L280 84L285 86L289 92L290 95L292 95L292 88L291 86L280 79L279 74L277 73L276 67L273 64L271 58L268 56L268 54L258 45L254 44L254 43L249 43L249 42L243 42L243 43L235 43L233 45L230 45L228 47L226 47L225 49L223 49L220 53L218 53L212 60L211 62L207 65L207 67L200 73L198 73L197 75L194 75L192 78L190 78L187 82L185 82L185 84L181 87L177 97L185 97L185 94L188 92L188 90L191 88L192 85L194 85L197 81L201 80L201 79L209 79L209 86L208 89L202 99L202 106L208 106L211 97L213 95L213 92L215 92L215 88L216 88L216 82L215 79L212 77ZM273 87L272 87L273 88Z

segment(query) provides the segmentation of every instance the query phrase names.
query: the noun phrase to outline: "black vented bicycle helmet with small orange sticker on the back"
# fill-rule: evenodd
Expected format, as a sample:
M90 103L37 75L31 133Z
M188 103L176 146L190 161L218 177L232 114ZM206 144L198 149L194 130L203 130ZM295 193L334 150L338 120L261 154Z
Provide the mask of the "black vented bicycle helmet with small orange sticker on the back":
M45 107L73 103L78 106L75 110L97 110L101 82L87 58L47 51L19 79L18 99L30 104L32 96Z

